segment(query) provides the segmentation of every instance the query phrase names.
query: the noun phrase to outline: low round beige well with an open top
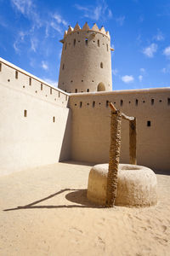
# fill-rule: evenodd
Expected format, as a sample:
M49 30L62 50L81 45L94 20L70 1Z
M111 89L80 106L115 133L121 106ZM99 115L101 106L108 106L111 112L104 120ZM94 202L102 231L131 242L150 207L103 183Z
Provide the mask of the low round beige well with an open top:
M105 206L108 164L92 167L88 177L88 200ZM120 164L116 206L149 207L156 205L156 174L147 167Z

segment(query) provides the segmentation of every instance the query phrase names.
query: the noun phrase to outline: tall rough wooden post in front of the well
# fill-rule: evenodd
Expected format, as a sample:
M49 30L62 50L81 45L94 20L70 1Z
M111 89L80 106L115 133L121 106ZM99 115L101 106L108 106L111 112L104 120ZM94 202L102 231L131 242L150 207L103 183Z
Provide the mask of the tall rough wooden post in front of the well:
M121 151L121 120L122 114L113 108L113 104L110 103L111 107L111 147L110 147L110 160L109 160L109 171L107 177L107 188L106 188L106 207L113 207L116 200L116 183L117 173L119 167L119 158Z

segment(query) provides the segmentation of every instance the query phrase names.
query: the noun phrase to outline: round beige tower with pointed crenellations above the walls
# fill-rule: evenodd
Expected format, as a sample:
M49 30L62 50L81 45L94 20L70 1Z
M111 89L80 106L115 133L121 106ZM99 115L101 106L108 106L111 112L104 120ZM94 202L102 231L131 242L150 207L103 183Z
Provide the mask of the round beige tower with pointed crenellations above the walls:
M96 24L77 24L65 31L60 42L63 44L59 89L70 93L110 91L111 80L111 38L109 32Z

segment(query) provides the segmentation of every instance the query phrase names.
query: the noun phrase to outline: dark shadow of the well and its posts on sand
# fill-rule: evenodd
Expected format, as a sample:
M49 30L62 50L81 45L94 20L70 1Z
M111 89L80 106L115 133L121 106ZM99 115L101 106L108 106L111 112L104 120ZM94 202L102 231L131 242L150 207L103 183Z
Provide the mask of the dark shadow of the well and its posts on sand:
M35 206L36 204L46 201L56 195L62 194L65 191L72 191L68 194L65 195L65 199L68 201L71 201L73 203L77 204L72 204L72 205L59 205L59 206ZM87 198L87 189L61 189L58 192L48 195L47 197L44 197L38 201L33 201L30 204L23 206L23 207L15 207L15 208L8 208L3 210L4 212L8 211L14 211L14 210L24 210L24 209L57 209L57 208L104 208L104 207L99 207L90 201L88 201Z

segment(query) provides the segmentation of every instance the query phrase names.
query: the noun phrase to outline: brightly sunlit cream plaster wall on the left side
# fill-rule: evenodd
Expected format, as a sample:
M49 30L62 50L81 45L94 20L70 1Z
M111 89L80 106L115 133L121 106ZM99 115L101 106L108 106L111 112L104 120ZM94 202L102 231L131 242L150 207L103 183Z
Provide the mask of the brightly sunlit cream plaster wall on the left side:
M68 95L3 59L0 61L0 175L68 160Z

